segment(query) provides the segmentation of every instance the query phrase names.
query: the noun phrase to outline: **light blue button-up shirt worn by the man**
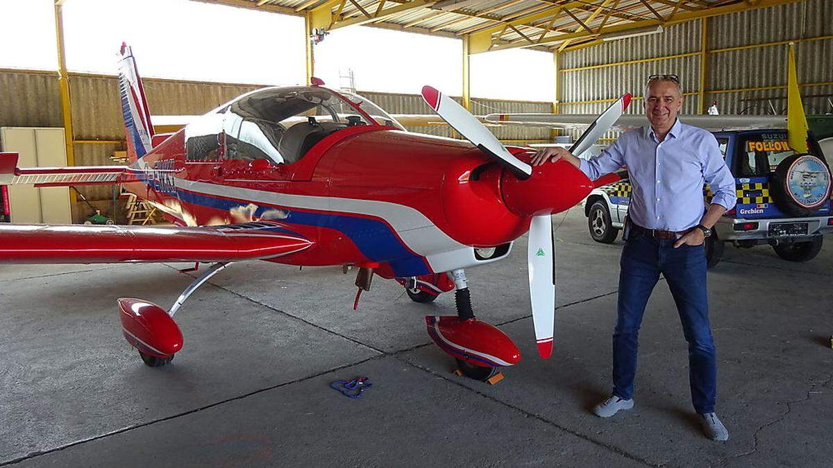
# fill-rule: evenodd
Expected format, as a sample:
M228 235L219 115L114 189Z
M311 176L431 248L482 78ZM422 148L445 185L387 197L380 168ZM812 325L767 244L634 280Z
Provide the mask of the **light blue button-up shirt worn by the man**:
M623 133L616 142L590 160L581 160L581 172L591 180L626 166L631 177L631 221L648 229L686 231L700 223L706 212L703 182L726 210L735 207L735 177L726 167L711 132L677 119L666 139L659 142L650 125Z

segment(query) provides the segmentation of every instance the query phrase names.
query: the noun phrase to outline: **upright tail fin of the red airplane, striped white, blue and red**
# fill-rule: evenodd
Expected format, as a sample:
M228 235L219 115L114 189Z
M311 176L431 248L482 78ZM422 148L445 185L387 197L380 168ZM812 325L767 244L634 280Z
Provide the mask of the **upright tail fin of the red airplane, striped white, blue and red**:
M122 114L127 137L127 158L137 161L153 147L153 125L147 109L145 88L136 68L130 47L122 42L118 62L119 91L122 94Z

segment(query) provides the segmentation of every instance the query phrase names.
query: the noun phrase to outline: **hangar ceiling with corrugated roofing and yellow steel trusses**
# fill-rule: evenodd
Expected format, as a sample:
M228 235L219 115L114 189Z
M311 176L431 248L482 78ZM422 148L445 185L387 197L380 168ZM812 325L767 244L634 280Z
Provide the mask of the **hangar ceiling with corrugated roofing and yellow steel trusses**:
M574 50L661 32L680 22L799 0L201 0L310 15L327 31L371 25L469 37L471 53L516 47Z

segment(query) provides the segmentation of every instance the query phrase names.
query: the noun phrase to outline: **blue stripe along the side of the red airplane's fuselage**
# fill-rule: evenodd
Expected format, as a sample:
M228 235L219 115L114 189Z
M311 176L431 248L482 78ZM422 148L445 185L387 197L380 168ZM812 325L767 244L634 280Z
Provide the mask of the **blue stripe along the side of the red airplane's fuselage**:
M201 207L211 207L224 212L246 204L246 202L235 202L180 189L177 189L177 194L182 202ZM273 209L275 208L258 206L252 216L261 217L263 212ZM302 212L284 207L279 209L287 214L287 217L281 218L280 222L302 226L327 227L343 232L356 244L362 255L367 256L371 261L389 263L396 276L419 276L431 272L426 266L425 259L403 246L391 228L384 222L349 215Z

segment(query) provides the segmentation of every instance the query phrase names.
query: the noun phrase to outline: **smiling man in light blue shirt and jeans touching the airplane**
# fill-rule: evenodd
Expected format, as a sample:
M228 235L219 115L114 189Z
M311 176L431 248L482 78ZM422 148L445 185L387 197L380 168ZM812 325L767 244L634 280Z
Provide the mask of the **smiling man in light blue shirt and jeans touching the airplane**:
M706 436L726 441L729 433L715 414L717 365L709 324L704 241L723 213L735 206L735 179L715 137L677 118L682 103L676 75L651 75L645 92L651 125L623 133L589 161L563 148L547 148L532 163L538 166L563 158L591 180L626 166L633 186L613 332L613 394L593 412L610 417L633 407L637 336L648 298L662 274L688 341L691 402ZM707 208L704 182L715 194Z

